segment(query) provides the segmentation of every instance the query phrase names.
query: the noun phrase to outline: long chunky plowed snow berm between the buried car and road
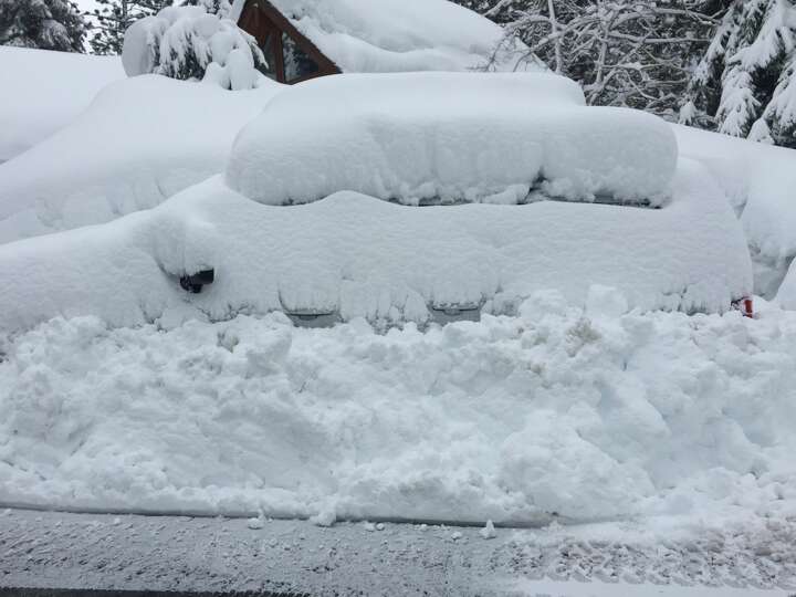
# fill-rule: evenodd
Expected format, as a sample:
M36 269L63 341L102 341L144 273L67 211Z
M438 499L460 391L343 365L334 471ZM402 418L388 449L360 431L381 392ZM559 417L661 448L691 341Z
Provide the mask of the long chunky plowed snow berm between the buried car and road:
M796 314L624 302L540 293L517 317L388 334L281 314L56 318L2 343L0 502L327 522L796 516Z

